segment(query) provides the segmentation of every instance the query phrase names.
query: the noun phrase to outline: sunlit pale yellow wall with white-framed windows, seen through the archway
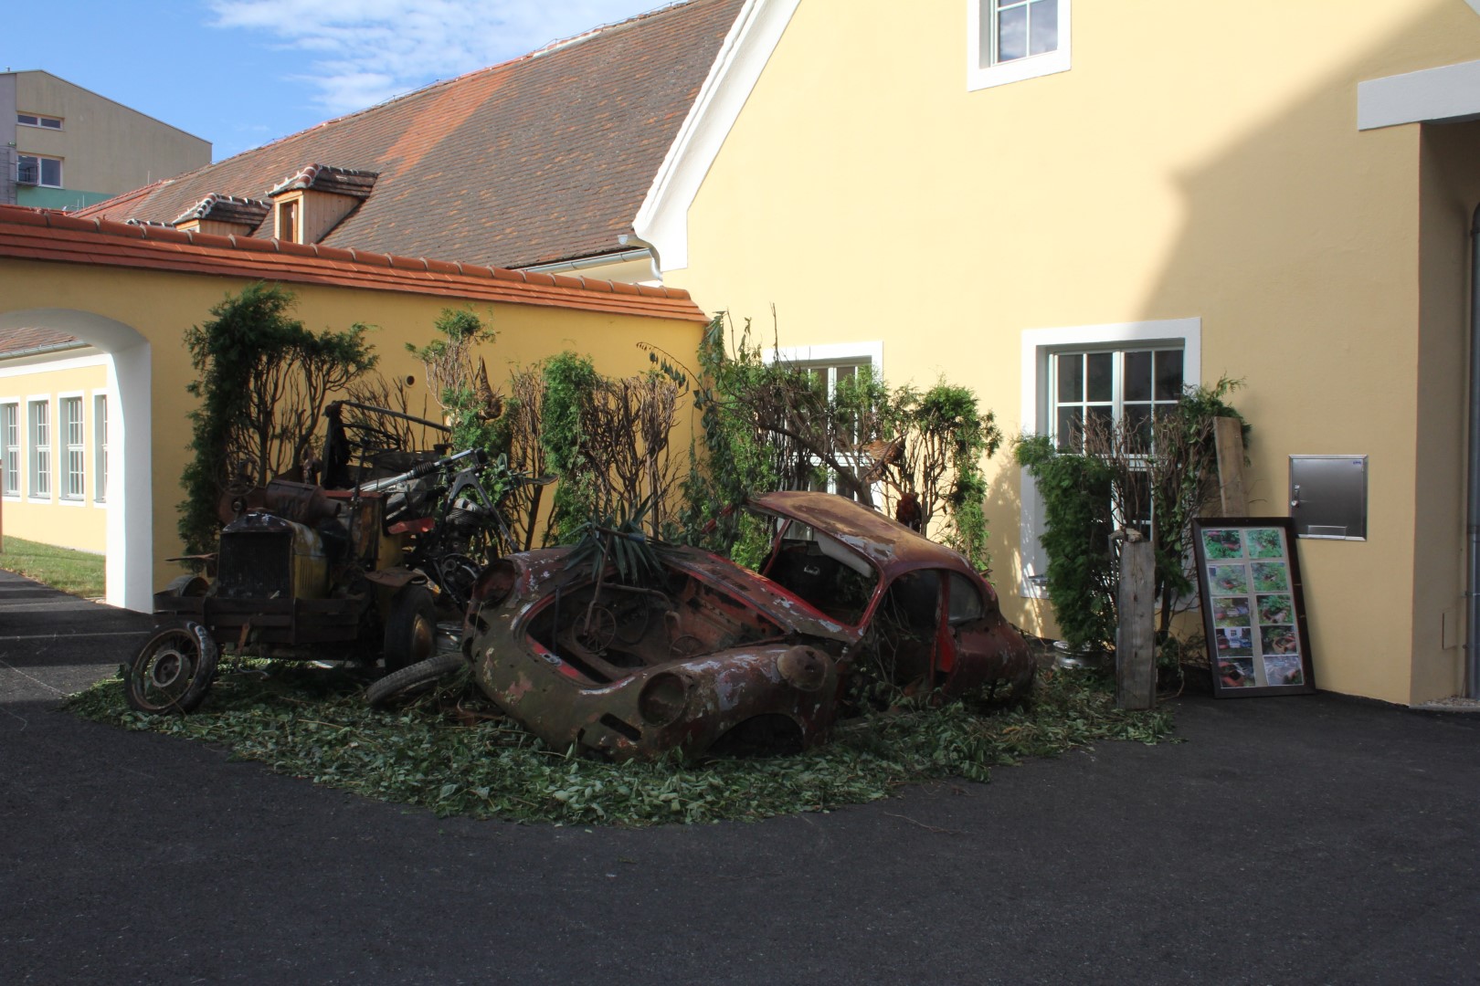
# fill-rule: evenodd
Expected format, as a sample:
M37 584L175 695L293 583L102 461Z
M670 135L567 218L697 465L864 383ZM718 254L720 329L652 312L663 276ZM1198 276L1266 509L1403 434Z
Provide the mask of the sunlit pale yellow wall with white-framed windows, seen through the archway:
M89 353L89 350L84 350ZM19 454L16 457L19 489L0 497L0 526L7 537L41 544L104 553L108 514L105 500L98 492L98 421L96 398L107 398L108 380L104 361L98 355L58 353L64 368L47 368L24 359L0 361L0 405L15 404L19 424ZM81 365L78 365L81 364ZM67 491L67 435L62 427L61 398L81 398L84 473L83 495L71 498ZM50 432L49 491L38 494L31 470L30 405L44 401ZM0 442L6 436L0 435ZM0 446L0 457L9 458Z

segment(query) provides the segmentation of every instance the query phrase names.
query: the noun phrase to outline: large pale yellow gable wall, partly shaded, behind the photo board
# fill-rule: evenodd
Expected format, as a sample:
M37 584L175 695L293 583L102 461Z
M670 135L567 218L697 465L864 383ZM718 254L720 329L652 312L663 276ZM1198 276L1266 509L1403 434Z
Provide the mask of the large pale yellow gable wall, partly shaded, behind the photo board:
M1026 330L1202 319L1200 380L1243 380L1255 513L1288 513L1291 454L1369 457L1368 540L1299 543L1317 683L1453 693L1459 652L1436 649L1427 596L1453 606L1452 551L1434 585L1415 551L1458 540L1456 480L1442 472L1419 519L1415 477L1421 415L1447 421L1425 463L1462 415L1456 299L1419 331L1419 127L1359 132L1356 103L1359 81L1473 59L1480 16L1462 0L1251 13L1077 0L1070 71L968 92L965 3L802 0L666 282L768 333L774 303L783 346L884 340L891 381L968 384L1009 435ZM1421 365L1444 381L1422 405ZM995 581L1011 619L1052 630L1017 591L1009 463L987 503Z

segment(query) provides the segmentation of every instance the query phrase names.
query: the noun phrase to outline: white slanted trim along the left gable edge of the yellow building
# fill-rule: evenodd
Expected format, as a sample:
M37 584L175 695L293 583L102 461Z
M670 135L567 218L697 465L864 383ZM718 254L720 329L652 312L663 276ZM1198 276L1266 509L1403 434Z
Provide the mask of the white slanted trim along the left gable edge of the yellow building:
M688 266L688 210L801 0L746 0L632 226L657 269Z

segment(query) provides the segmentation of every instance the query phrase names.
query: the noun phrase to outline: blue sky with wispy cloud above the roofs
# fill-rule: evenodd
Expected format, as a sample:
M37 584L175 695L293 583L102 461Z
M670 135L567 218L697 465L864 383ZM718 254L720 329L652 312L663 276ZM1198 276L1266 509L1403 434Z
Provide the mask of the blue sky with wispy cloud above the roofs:
M40 0L0 68L41 68L210 140L219 161L665 0Z

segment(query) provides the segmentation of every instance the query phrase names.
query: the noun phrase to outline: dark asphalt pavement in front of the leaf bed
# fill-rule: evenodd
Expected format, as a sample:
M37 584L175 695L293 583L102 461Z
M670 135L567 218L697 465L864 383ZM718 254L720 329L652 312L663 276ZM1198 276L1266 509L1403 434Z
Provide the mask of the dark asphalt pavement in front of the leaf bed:
M1480 982L1480 715L1188 695L989 785L555 828L55 710L148 625L0 572L6 986Z

